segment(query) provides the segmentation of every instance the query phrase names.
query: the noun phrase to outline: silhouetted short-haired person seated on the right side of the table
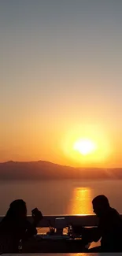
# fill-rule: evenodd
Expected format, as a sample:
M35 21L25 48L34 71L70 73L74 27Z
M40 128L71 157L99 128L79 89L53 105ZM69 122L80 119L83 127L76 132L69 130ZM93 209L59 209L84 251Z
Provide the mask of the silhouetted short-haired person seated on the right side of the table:
M122 251L122 220L120 214L109 206L105 195L98 195L92 201L94 213L99 218L98 228L90 228L89 242L98 242L101 247L94 247L92 251L116 252ZM84 232L85 233L85 232ZM87 236L88 235L88 236Z

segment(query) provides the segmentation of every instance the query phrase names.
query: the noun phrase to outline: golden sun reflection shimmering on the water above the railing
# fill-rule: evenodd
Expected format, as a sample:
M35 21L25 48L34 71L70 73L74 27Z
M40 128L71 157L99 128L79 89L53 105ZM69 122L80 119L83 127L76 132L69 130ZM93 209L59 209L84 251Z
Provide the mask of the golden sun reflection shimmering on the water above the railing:
M71 214L93 214L92 190L90 187L75 187L72 198L68 205L68 213Z

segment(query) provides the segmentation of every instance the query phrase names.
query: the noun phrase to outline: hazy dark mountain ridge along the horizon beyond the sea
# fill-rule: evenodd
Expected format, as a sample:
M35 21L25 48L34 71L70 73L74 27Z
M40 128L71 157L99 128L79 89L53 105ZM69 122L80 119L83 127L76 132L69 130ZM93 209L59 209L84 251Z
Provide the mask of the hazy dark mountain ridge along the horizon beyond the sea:
M49 161L6 161L0 163L0 180L122 179L122 169L74 168Z

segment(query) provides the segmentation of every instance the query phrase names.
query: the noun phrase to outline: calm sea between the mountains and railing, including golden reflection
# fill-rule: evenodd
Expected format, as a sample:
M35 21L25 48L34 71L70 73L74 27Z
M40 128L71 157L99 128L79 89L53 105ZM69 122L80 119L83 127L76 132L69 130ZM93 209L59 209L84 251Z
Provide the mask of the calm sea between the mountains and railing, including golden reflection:
M9 203L23 198L28 214L37 206L43 214L92 214L94 196L104 194L122 213L122 181L43 180L0 182L0 215Z

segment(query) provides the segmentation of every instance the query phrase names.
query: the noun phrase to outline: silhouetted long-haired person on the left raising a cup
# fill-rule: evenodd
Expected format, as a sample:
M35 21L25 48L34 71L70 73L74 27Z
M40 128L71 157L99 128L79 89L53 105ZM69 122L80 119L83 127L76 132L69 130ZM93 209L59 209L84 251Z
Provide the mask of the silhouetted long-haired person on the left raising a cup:
M27 220L26 203L22 199L10 204L6 216L0 223L0 252L17 252L20 239L36 235L36 226L43 215L38 210L34 212L34 221L31 224Z

